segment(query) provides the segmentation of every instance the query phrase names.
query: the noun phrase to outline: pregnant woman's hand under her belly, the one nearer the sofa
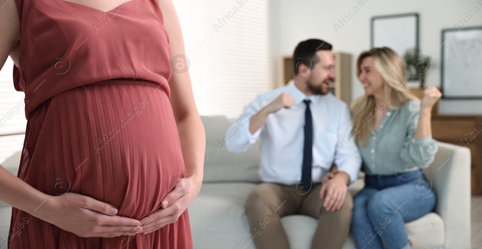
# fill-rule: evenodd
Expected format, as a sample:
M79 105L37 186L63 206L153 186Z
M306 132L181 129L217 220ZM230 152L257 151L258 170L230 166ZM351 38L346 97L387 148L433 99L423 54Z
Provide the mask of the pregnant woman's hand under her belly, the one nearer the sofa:
M189 203L198 196L199 190L201 189L201 182L197 179L179 179L174 190L161 201L162 209L158 209L141 219L141 221L143 221L142 234L152 233L167 224L176 222L187 209ZM166 203L164 203L165 201Z

